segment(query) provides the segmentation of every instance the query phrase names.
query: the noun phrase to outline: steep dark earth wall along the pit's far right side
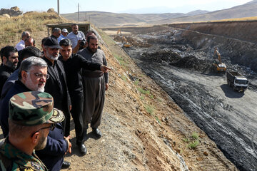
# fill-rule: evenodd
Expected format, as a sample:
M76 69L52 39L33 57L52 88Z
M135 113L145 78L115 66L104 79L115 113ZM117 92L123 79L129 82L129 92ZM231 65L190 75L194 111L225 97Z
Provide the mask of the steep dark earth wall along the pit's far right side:
M181 28L181 43L209 52L217 46L222 60L257 71L257 21L233 21L203 24L171 24ZM225 58L224 58L225 57Z

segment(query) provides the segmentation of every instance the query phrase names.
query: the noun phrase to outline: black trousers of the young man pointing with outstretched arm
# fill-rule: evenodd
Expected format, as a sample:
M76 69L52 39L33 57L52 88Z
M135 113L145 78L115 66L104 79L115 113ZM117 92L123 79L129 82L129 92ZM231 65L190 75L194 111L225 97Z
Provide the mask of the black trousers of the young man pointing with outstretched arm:
M71 115L75 124L76 143L81 144L84 138L83 134L83 93L71 95Z

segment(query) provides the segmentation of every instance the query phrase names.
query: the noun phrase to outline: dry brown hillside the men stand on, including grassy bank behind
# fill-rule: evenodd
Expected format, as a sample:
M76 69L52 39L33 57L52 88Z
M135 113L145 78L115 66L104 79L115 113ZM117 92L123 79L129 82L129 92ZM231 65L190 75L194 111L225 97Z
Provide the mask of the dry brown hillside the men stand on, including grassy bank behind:
M39 48L41 38L46 36L44 24L65 22L54 14L34 16L40 15L41 22L33 15L28 19L24 15L24 18L5 20L10 24L5 33L16 36L11 41L6 37L1 47L14 46L21 31L29 30ZM73 147L71 155L65 157L71 162L69 170L237 170L122 48L104 32L97 31L105 42L101 48L112 68L100 126L103 137L96 140L89 130L88 154L79 155L71 120Z

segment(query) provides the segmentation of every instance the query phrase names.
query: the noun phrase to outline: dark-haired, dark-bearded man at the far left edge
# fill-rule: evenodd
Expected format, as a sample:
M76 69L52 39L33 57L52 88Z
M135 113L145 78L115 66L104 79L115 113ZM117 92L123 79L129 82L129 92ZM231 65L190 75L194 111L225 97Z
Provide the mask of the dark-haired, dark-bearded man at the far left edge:
M18 65L18 51L13 46L1 48L1 66L0 66L0 94L6 80L15 71Z

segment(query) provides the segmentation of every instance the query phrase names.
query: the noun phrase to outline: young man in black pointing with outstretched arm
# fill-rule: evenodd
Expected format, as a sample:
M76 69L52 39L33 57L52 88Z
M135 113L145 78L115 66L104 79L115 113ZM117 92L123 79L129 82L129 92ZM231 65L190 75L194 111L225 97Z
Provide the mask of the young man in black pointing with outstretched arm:
M71 95L71 115L75 123L76 144L79 145L80 152L86 154L86 147L83 143L83 85L81 78L81 68L91 71L107 72L109 68L102 66L100 63L91 63L82 56L72 53L71 41L66 38L60 41L61 58L64 63L64 70L67 78L67 86Z

